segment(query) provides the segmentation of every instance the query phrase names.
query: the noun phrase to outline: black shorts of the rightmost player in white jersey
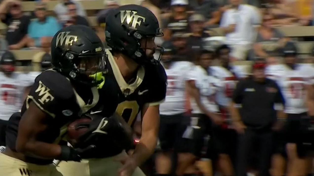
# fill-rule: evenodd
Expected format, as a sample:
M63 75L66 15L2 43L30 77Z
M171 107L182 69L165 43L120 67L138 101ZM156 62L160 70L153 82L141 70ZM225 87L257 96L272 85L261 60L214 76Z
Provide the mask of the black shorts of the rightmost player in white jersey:
M298 155L304 157L312 148L312 131L310 118L306 113L288 114L285 131L286 143L297 145Z

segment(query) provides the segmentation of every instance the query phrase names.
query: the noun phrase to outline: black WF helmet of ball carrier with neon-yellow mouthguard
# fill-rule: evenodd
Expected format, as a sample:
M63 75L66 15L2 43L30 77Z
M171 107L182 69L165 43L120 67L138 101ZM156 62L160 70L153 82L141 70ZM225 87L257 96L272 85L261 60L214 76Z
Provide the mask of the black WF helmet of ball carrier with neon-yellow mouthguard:
M63 28L51 41L54 69L79 83L95 86L102 81L103 57L101 40L92 28L84 25Z

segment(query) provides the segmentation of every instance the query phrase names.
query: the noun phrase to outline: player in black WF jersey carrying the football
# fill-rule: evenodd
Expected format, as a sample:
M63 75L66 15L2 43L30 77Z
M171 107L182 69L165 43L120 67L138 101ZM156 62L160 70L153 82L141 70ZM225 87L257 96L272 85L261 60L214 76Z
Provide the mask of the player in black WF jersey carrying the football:
M54 68L36 77L21 112L9 119L0 175L59 176L53 159L80 161L82 151L92 148L74 149L59 141L68 123L99 100L103 44L91 28L72 25L53 37L51 54Z

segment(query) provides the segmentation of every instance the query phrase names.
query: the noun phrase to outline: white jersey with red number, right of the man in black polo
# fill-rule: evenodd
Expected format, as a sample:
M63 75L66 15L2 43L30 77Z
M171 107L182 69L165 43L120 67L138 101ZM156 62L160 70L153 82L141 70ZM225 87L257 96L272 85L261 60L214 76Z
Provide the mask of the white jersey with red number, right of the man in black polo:
M313 84L313 71L302 65L293 70L286 65L270 65L266 69L268 78L276 80L285 100L285 113L307 112L305 85Z

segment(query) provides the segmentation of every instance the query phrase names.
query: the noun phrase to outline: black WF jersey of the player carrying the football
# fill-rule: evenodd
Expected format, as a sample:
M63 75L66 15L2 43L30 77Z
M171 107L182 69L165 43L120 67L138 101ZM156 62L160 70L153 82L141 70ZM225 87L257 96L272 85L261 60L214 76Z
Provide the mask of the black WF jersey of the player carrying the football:
M42 72L36 77L21 112L13 114L9 119L6 132L8 147L15 151L19 121L31 101L51 117L47 119L49 121L47 123L49 124L48 128L40 134L38 140L47 143L59 143L67 132L68 124L82 113L89 111L97 104L98 100L99 94L96 87L76 85L54 70ZM52 160L31 157L28 157L27 161L37 164L52 162Z

